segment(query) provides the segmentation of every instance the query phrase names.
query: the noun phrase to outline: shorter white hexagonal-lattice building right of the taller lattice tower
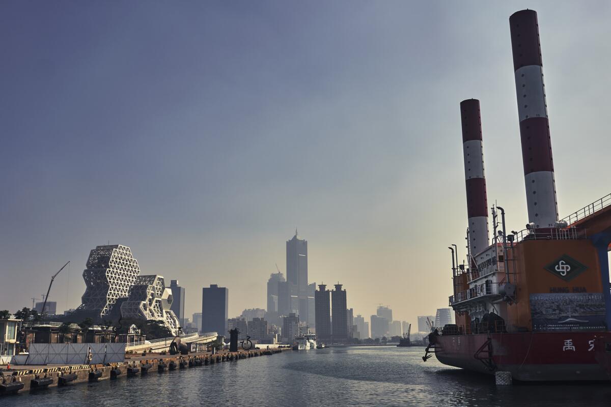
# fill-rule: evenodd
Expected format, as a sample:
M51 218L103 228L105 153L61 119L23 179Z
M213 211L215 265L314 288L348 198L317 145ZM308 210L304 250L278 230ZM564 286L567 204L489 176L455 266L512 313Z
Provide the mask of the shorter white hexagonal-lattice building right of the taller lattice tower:
M163 276L139 276L131 287L129 298L121 304L121 315L163 321L172 334L177 334L180 323L170 309L173 300L172 290L166 287Z

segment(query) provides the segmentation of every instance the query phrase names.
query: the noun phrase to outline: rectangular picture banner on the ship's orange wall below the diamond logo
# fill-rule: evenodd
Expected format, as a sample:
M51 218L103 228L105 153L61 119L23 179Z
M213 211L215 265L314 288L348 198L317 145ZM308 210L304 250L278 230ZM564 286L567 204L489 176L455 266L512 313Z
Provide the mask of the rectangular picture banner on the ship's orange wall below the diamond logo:
M530 294L533 331L605 330L601 293Z

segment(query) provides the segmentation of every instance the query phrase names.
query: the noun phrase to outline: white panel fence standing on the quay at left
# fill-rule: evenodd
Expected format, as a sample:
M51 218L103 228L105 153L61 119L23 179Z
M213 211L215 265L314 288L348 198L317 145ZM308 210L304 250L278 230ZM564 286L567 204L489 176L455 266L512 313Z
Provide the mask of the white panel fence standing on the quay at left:
M92 359L88 354L91 350ZM125 344L31 344L25 364L98 364L125 361Z

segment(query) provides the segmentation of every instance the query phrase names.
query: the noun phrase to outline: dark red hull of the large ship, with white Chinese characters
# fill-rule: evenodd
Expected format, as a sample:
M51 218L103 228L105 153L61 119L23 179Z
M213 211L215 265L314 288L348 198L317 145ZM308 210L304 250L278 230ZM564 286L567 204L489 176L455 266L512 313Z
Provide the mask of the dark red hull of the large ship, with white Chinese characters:
M605 369L596 360L595 336L601 334L447 335L436 336L434 345L435 355L443 364L489 374L507 371L515 380L609 380Z

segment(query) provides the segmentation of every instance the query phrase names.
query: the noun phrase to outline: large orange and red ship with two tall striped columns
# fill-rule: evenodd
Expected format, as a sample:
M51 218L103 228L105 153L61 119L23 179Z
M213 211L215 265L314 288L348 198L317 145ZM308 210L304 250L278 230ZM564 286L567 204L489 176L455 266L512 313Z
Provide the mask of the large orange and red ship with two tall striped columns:
M431 329L423 360L518 381L609 380L611 194L559 218L537 14L509 20L528 223L511 230L510 212L488 207L480 103L464 100L466 261L448 247L455 323Z

